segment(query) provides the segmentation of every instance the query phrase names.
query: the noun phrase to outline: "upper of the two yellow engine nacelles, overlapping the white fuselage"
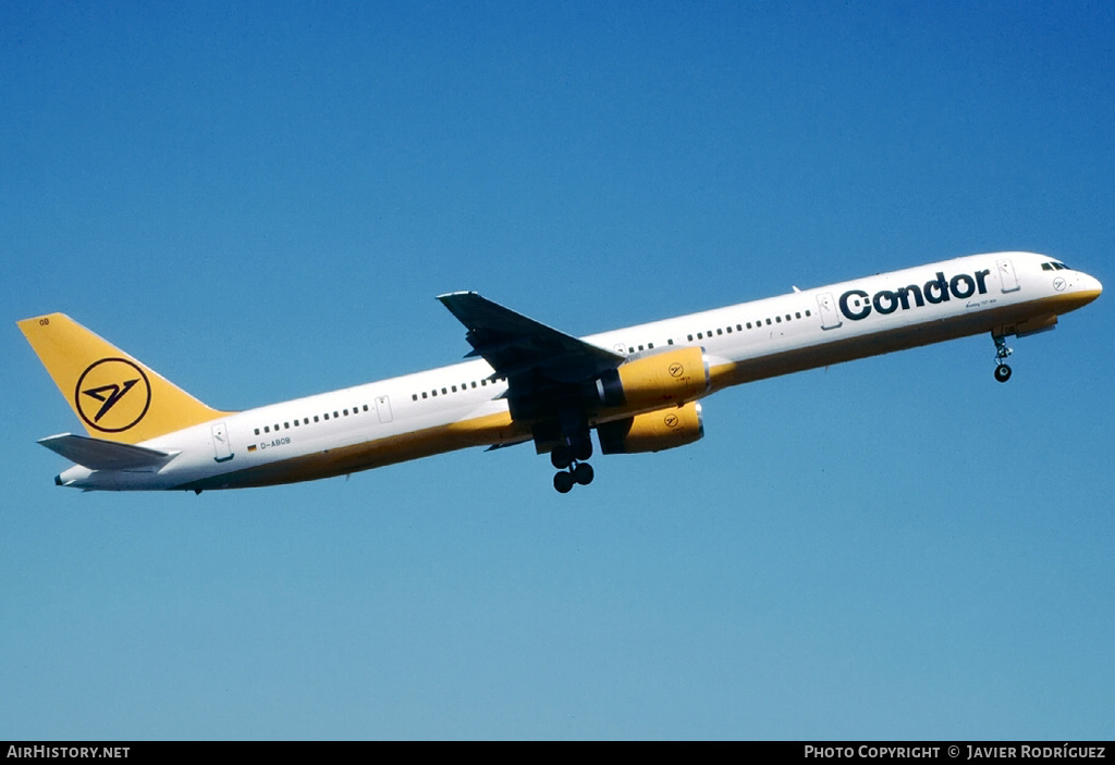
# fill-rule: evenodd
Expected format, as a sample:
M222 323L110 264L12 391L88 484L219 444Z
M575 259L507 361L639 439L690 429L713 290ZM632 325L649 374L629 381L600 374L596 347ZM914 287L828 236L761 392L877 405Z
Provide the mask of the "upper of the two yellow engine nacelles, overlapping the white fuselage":
M708 391L708 360L699 347L655 353L609 370L597 380L604 406L678 405Z

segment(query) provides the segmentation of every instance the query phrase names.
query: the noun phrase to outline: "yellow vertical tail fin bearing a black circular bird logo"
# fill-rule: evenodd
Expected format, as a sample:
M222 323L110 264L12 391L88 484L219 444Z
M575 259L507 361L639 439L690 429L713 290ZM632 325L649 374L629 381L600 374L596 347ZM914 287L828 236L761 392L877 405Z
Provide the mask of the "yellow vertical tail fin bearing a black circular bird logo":
M65 314L19 328L89 435L139 443L229 414L210 409Z

